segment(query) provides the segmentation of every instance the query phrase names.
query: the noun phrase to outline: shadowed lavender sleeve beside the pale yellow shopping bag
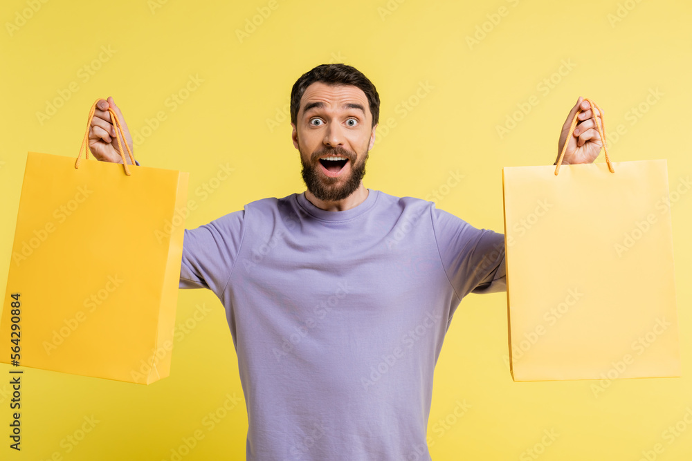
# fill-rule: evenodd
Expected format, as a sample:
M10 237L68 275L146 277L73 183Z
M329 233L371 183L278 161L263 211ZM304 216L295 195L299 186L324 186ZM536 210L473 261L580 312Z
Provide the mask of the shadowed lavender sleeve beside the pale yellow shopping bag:
M504 234L476 229L435 206L431 213L437 250L459 300L468 293L506 291Z

